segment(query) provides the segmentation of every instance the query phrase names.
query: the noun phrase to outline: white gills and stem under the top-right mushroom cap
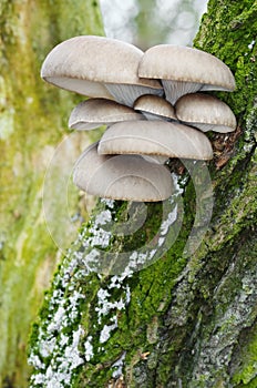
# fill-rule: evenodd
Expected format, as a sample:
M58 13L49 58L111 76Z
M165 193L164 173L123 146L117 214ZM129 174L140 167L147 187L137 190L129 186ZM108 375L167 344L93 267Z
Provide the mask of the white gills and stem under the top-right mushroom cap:
M202 83L162 80L166 100L175 105L176 101L184 94L195 93L202 88Z

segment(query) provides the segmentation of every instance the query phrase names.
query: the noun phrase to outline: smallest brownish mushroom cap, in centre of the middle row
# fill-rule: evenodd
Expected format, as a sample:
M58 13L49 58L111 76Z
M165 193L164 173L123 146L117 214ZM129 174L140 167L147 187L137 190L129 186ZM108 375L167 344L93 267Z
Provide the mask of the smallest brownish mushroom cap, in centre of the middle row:
M134 110L151 113L163 119L177 120L173 105L163 98L154 94L141 95L134 103Z

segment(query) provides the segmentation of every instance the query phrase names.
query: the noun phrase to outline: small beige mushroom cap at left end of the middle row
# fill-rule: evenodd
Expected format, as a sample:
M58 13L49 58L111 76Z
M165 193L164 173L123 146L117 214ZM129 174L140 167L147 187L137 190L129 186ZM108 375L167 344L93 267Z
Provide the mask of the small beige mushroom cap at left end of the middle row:
M144 120L144 116L132 108L112 100L89 99L73 109L69 119L69 127L93 130L104 124L130 120Z

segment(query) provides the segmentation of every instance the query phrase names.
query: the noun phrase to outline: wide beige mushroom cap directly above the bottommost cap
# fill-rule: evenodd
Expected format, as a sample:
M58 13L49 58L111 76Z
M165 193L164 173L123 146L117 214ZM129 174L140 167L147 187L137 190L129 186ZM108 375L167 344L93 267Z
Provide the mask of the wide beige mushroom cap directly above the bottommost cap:
M208 137L191 126L167 121L126 121L111 125L99 142L100 154L146 154L210 160Z

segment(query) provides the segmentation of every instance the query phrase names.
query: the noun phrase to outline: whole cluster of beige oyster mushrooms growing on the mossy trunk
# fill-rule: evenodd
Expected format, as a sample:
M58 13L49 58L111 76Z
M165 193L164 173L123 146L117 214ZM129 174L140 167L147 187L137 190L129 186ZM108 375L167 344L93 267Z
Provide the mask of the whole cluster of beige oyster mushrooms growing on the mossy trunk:
M166 160L212 160L204 132L236 129L229 106L203 93L233 91L234 76L197 49L160 44L143 52L115 39L80 35L53 48L41 76L89 98L71 112L71 129L107 126L74 167L75 185L93 195L164 201L174 192Z

